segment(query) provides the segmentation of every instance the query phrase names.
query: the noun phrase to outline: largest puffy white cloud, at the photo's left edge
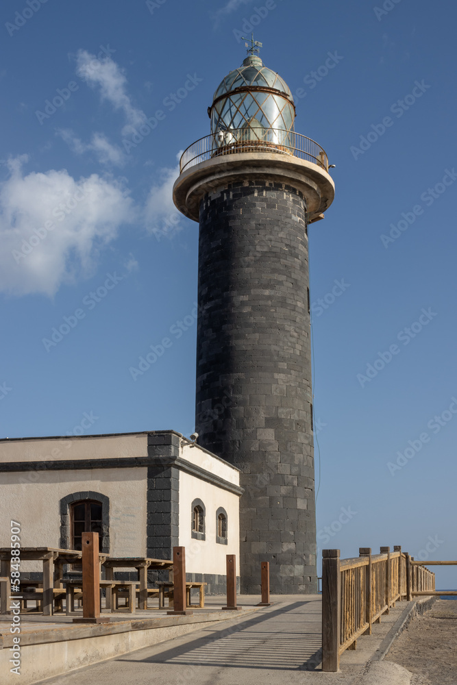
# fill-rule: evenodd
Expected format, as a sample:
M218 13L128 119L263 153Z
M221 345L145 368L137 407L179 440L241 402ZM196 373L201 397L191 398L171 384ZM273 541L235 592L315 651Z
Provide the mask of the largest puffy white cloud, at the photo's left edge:
M0 184L0 290L52 296L63 283L90 275L99 251L132 221L120 182L62 169L23 174L27 156L9 160Z

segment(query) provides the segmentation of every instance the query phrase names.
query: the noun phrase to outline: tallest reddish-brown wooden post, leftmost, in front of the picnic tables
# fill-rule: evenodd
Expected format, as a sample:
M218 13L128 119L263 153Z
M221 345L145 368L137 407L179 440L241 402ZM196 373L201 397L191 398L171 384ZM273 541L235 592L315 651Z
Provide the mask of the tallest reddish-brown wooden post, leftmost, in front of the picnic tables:
M109 616L100 616L99 534L82 534L82 618L73 623L108 623ZM108 588L107 588L108 592Z

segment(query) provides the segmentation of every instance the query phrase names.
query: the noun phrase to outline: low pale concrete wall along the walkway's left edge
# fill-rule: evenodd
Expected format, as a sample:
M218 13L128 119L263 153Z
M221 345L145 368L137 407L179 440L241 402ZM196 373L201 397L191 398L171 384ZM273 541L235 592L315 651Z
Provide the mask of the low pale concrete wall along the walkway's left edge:
M185 635L220 621L240 619L256 609L240 612L208 612L192 616L166 616L158 619L115 621L99 625L73 625L25 629L21 632L20 677L10 663L13 636L0 634L0 673L2 685L30 685L39 680L69 673L90 664L112 659L143 647Z

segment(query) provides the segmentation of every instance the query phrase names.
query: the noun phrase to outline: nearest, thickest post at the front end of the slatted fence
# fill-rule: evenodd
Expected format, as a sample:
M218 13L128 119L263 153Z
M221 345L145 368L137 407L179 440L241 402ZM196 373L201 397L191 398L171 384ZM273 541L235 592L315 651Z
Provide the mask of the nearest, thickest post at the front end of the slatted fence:
M339 549L322 550L322 670L340 667L341 574Z

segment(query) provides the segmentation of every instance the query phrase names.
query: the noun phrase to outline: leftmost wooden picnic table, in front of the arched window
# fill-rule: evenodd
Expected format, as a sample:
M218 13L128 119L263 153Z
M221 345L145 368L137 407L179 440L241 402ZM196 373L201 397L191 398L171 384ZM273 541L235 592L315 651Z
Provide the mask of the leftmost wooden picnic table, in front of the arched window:
M60 547L21 547L19 551L21 562L42 561L42 612L44 616L52 616L54 588L62 588L63 566L81 560L82 552L77 549L60 549ZM107 554L99 555L100 564L106 560L107 556ZM12 557L10 547L0 547L2 576L11 577L12 558L14 559L14 556ZM57 571L57 577L54 571Z

